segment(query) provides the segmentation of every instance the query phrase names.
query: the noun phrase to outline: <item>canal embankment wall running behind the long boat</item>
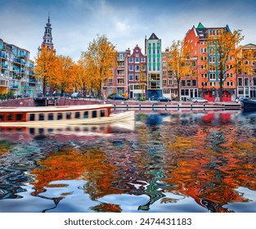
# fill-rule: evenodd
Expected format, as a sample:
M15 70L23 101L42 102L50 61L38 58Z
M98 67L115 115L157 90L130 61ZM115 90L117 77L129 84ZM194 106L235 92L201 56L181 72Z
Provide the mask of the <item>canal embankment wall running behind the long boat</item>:
M43 104L42 104L43 101ZM41 104L40 104L41 102ZM113 104L113 110L240 110L241 104L236 102L194 103L190 101L101 101L97 99L54 98L22 98L0 101L0 106L78 106L92 104Z

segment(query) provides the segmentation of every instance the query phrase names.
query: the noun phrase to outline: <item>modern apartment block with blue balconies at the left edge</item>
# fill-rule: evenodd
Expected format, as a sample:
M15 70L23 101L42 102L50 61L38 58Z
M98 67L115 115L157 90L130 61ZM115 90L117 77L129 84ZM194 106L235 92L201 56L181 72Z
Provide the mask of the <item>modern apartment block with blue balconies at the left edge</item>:
M30 52L0 38L0 93L10 90L15 96L34 96L39 88Z

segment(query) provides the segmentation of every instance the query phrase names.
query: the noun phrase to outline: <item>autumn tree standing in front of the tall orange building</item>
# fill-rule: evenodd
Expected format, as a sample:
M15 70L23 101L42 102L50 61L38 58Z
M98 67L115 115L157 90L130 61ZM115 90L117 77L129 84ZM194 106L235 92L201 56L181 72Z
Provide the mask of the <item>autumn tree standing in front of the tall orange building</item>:
M216 66L216 74L219 80L219 98L222 101L223 83L227 79L227 73L236 73L236 67L240 59L240 42L244 39L241 30L222 29L218 34L210 35L207 38L209 51L216 56L213 65ZM209 53L210 55L211 53ZM213 65L208 65L208 69Z

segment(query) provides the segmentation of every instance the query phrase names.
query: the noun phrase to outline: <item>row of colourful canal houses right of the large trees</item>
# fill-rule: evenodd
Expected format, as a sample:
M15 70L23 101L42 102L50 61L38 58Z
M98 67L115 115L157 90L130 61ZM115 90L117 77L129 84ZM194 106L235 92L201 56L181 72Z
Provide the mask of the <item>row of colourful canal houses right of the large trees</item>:
M196 75L182 78L182 101L190 100L192 97L204 97L208 101L219 100L218 56L206 39L209 35L219 34L222 29L231 31L228 25L205 28L200 23L186 33L184 41L191 52L192 68ZM248 44L244 48L255 51L254 60L248 63L254 69L254 74L246 74L233 68L236 65L235 59L227 61L227 72L222 87L223 101L234 101L236 97L256 97L256 45ZM164 52L161 50L161 39L153 33L150 38L145 38L145 54L138 46L132 51L128 49L119 52L114 77L106 79L104 83L104 96L115 92L132 99L177 97L177 79L168 75L166 70L168 48ZM211 68L206 67L207 65L211 65Z

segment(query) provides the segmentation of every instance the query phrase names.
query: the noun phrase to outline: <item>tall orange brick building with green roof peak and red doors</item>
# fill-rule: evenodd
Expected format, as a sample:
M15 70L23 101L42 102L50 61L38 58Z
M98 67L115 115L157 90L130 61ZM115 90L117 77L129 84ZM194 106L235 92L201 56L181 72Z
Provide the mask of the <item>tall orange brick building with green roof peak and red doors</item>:
M192 27L185 37L185 46L190 55L197 59L196 74L198 79L199 96L208 101L219 101L220 79L218 71L218 52L214 47L216 43L208 41L209 36L218 36L223 30L231 32L226 27L205 28L201 23ZM230 58L226 62L226 70L222 83L222 100L231 101L236 98L236 60Z

